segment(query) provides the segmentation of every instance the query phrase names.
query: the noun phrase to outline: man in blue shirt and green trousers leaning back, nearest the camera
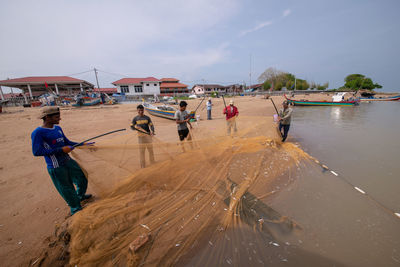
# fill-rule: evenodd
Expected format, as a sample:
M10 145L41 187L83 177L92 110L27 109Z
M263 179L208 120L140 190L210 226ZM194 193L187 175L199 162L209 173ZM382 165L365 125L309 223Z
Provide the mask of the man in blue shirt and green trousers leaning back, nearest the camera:
M85 194L88 184L85 174L68 155L78 143L68 140L58 126L61 120L59 107L42 108L39 119L43 120L43 125L36 128L31 135L33 155L44 157L51 180L73 215L82 209L81 201L92 197L91 194ZM83 145L91 144L93 143Z

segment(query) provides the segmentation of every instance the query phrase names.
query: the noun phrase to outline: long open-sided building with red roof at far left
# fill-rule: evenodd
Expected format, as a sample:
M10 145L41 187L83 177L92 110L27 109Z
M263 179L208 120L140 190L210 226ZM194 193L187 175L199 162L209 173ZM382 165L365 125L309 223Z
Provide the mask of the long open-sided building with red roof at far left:
M22 90L22 96L25 98L25 102L27 102L27 95L30 99L35 99L38 96L49 92L57 95L73 95L94 88L93 84L85 80L69 76L23 77L0 81L0 94L2 99L4 99L4 94L1 86Z

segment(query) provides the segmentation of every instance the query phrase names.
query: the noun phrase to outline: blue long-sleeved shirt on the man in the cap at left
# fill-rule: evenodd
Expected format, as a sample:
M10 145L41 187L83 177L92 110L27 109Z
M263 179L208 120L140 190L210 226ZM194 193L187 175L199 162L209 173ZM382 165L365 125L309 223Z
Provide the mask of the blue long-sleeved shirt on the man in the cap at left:
M63 166L70 159L68 154L62 151L63 146L77 144L69 141L58 125L54 125L53 128L37 127L31 138L33 155L44 156L49 169Z

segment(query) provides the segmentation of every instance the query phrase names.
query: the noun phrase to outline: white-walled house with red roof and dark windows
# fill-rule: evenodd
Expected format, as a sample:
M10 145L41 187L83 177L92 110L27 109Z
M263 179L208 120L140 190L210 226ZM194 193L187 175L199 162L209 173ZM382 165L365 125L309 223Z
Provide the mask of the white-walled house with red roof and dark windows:
M118 93L126 95L159 95L161 80L154 77L123 78L112 83L117 87Z

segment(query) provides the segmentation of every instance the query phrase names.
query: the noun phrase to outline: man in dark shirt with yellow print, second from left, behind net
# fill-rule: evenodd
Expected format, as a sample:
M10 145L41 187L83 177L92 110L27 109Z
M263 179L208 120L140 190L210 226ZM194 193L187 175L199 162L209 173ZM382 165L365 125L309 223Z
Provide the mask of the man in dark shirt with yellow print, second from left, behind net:
M149 152L150 164L154 161L153 138L154 125L149 116L144 115L143 105L137 106L138 115L133 118L131 128L138 131L140 167L146 168L146 149Z

